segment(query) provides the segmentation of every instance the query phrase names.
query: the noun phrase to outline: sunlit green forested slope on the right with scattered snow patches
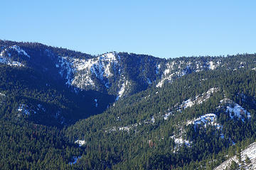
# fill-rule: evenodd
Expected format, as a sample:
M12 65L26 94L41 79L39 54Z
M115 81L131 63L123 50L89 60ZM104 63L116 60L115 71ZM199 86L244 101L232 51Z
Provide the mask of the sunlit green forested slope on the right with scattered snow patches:
M80 120L66 134L85 140L90 156L76 166L97 158L114 169L193 169L219 154L211 166L218 164L230 146L255 139L255 76L245 69L189 74Z

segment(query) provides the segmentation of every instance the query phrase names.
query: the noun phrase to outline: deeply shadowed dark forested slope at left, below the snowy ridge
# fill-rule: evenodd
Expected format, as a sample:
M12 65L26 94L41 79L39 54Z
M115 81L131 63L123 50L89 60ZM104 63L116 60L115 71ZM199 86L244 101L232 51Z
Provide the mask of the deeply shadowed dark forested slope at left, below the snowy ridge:
M0 93L4 100L1 118L63 126L102 113L114 101L114 96L97 91L74 94L58 81L27 67L0 64L0 74Z

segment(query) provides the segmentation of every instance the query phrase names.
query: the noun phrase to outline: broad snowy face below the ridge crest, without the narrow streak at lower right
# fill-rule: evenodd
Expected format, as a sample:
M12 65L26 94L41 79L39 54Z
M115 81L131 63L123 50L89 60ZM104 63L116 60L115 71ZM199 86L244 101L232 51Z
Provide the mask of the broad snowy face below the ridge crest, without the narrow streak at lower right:
M111 67L115 67L119 60L119 56L114 52L91 59L59 57L56 67L60 67L60 75L67 80L66 84L69 86L81 90L95 87L95 82L91 78L95 76L109 88L108 79L113 76Z

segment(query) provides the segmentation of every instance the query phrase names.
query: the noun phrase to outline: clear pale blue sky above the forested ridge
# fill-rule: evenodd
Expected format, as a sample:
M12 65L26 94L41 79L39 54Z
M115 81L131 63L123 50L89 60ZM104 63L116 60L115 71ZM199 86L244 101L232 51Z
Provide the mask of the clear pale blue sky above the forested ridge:
M0 39L92 55L256 52L256 1L1 0Z

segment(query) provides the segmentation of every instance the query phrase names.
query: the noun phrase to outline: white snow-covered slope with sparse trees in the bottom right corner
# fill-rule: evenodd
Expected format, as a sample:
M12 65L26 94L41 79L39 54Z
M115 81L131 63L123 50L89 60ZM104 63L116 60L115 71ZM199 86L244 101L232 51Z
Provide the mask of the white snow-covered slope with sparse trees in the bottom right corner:
M226 169L230 167L233 161L239 164L239 169L256 169L256 142L252 143L251 145L249 145L249 147L240 152L240 157L240 161L237 156L231 157L227 161L223 162L223 164L215 167L214 170ZM250 159L250 163L245 161L247 157Z

